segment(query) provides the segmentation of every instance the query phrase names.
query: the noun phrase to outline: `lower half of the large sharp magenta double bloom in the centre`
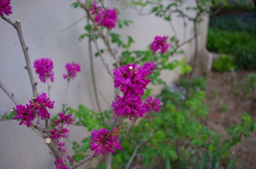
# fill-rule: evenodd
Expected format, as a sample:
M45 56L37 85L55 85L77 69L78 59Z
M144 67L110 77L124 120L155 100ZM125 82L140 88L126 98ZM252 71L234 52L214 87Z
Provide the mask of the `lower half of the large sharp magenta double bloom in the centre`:
M130 120L132 117L143 117L146 112L146 108L142 105L141 96L136 94L126 98L116 96L116 102L112 102L111 106L116 114L123 115L124 117L129 116Z

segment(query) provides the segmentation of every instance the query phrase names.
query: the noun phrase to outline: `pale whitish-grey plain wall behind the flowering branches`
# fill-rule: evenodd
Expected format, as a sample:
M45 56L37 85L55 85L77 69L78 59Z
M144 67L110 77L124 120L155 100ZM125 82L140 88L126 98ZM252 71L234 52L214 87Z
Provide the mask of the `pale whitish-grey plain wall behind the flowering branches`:
M54 62L55 82L51 88L51 99L55 100L55 114L60 111L63 102L64 92L67 86L62 74L66 72L67 62L78 62L81 64L81 73L74 81L71 81L68 90L68 103L76 108L80 103L95 109L93 87L90 74L88 47L86 40L78 41L83 33L86 20L73 26L71 29L56 33L80 19L84 12L81 9L74 9L71 4L74 1L61 0L12 0L12 13L9 18L19 19L22 24L25 42L29 47L31 63L38 58L51 58ZM190 3L190 2L189 2ZM115 6L113 2L108 3ZM191 3L194 4L194 3ZM122 30L115 30L124 37L132 35L136 41L134 49L144 49L153 41L156 35L172 36L172 30L167 22L155 16L138 17L132 9L121 9L120 18L133 20L134 24ZM176 27L179 38L182 38L182 22L175 18L173 24ZM207 29L207 22L203 23L204 30ZM25 104L32 96L30 81L27 70L24 69L25 59L20 47L16 31L13 27L0 19L0 79L14 93L19 103ZM187 39L191 36L191 24L188 25ZM204 44L204 43L203 43ZM184 47L189 58L194 53L193 43ZM201 46L200 49L203 49ZM188 51L189 50L189 51ZM182 56L179 56L180 58ZM108 62L111 60L108 60ZM109 108L114 99L113 82L106 73L99 58L94 59L94 70L96 72L97 88L108 103L100 99L103 109ZM34 70L34 69L33 69ZM164 72L163 76L167 81L178 77L177 73ZM38 76L34 77L39 82ZM46 84L38 83L38 93L47 92ZM99 94L101 97L101 95ZM13 106L12 101L0 90L0 113L3 115L9 112ZM81 140L88 132L82 128L71 127L70 139ZM45 141L36 135L26 126L19 126L16 121L3 121L0 123L0 168L23 169L23 168L54 168L53 156Z

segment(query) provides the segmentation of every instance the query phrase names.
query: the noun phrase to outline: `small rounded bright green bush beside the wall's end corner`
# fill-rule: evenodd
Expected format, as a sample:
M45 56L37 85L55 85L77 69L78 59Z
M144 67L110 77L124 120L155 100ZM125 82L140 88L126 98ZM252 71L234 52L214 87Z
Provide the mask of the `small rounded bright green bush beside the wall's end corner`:
M236 64L229 55L222 54L217 60L212 64L212 69L217 72L229 72L236 68Z

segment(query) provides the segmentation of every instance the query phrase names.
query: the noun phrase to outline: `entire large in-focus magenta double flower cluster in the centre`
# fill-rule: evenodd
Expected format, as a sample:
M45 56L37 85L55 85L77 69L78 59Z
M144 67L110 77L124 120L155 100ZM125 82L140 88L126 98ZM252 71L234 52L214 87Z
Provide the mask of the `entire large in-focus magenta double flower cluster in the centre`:
M136 64L128 64L114 70L114 87L120 87L123 97L117 96L112 107L117 115L124 117L143 117L146 108L143 106L141 95L151 79L146 79L150 72Z

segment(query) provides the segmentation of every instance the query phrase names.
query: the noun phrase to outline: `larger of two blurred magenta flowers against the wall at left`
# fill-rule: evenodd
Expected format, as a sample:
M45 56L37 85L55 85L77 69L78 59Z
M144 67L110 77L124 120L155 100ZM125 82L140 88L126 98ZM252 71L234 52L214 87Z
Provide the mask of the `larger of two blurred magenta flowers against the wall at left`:
M50 78L53 82L54 80L54 73L52 71L53 69L53 62L51 59L48 58L41 58L38 60L35 60L34 62L34 68L35 72L39 74L39 78L41 82L46 82L46 78Z

